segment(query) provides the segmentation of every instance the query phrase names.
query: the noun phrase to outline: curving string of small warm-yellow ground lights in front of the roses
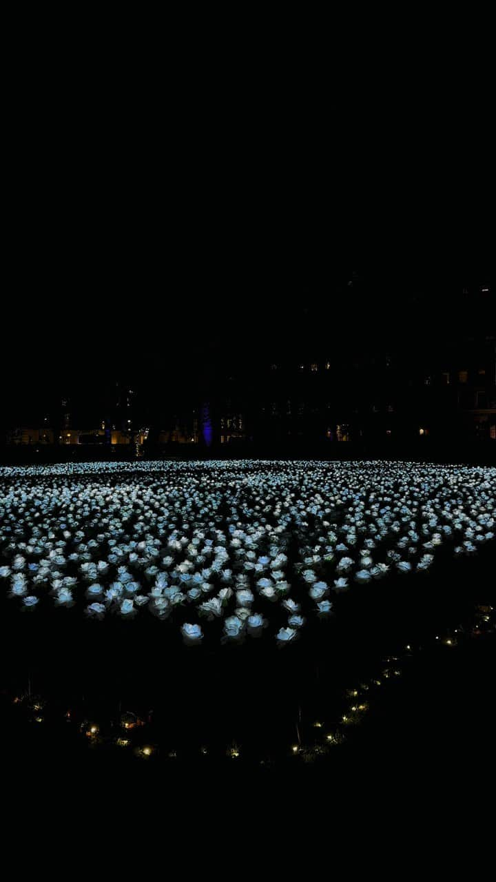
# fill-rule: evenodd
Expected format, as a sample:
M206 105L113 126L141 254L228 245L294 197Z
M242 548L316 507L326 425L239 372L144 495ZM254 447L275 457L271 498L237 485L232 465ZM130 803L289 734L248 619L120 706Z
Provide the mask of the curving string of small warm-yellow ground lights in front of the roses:
M422 644L407 643L401 650L398 650L397 654L387 655L382 659L380 666L378 666L378 669L372 676L367 677L358 685L351 686L345 691L346 704L343 707L341 718L332 722L314 721L312 723L312 729L315 732L314 743L291 744L289 745L287 756L292 756L304 762L312 762L327 756L335 747L346 741L349 728L356 726L364 719L364 714L370 711L374 696L377 695L378 690L386 687L388 681L395 681L395 679L402 676L402 665L404 662L436 646L444 646L453 650L467 640L485 635L493 635L496 632L495 619L494 608L491 605L477 604L470 621L459 624L457 628L446 629L442 633L432 635L430 639L427 639ZM12 704L29 709L29 722L40 724L45 721L45 717L40 712L46 709L47 701L40 695L31 695L26 692L24 695L15 696L11 700ZM130 716L133 718L132 723L129 721ZM68 723L73 722L71 710L65 712L64 719ZM131 749L134 756L139 759L150 760L156 758L161 753L159 744L133 746L132 739L126 737L130 729L139 729L145 725L144 721L134 714L124 714L120 725L117 726L119 734L116 736L102 736L101 726L97 722L88 721L87 719L79 723L79 731L87 739L87 743L91 747L98 747L102 744L114 744L117 748ZM201 745L199 753L201 756L208 755L209 751L205 744ZM232 742L228 745L225 751L227 759L237 760L242 758L242 756L243 751L240 744ZM177 759L177 751L169 750L165 753L165 757L167 759ZM262 766L272 766L274 765L274 759L260 759L259 763Z

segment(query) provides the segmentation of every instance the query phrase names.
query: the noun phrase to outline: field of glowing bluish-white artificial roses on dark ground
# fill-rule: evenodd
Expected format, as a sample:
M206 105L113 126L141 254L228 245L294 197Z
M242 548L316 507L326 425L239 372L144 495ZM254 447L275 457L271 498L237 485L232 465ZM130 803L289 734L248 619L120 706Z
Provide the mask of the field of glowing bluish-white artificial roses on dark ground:
M169 620L279 645L335 594L494 537L496 468L395 462L0 468L0 582L34 614ZM266 630L267 629L267 630Z

